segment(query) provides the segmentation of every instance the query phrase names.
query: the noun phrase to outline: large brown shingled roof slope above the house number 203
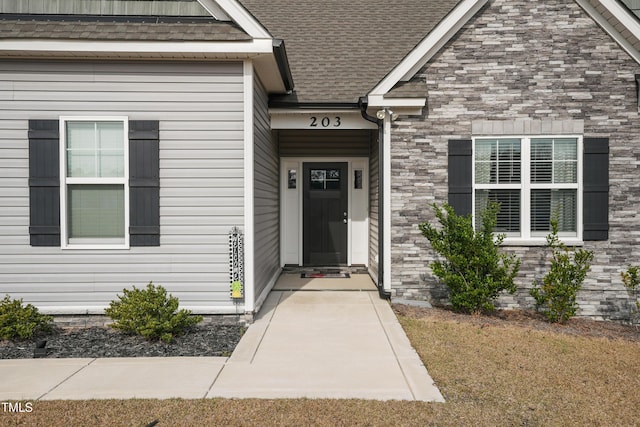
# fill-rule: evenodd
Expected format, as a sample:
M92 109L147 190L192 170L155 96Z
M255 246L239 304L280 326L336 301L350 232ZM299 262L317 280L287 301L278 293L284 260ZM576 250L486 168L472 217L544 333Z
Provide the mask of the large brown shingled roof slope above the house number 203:
M291 103L356 103L459 0L240 0L287 44Z

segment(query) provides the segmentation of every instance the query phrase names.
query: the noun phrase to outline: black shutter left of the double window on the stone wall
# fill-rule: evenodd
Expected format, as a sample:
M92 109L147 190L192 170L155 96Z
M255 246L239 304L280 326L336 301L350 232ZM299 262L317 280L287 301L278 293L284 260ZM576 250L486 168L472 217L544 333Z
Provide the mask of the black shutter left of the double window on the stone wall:
M473 167L470 139L449 141L449 205L458 215L471 214Z

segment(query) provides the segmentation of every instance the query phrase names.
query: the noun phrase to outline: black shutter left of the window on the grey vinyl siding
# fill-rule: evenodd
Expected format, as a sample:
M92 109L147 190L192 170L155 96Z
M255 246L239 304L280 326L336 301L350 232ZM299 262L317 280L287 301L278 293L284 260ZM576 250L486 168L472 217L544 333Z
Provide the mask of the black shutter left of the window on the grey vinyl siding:
M60 246L60 122L29 120L31 246Z

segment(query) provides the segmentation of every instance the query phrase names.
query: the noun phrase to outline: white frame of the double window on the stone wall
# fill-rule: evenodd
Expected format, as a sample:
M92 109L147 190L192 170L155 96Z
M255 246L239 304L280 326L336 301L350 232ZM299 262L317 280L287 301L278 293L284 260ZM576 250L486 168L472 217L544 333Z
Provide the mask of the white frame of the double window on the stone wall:
M577 141L577 182L576 183L532 183L531 182L531 140L542 138L575 138ZM519 139L520 140L520 183L509 184L476 184L476 140L483 139ZM583 212L582 212L582 192L583 192L583 137L582 135L478 135L472 137L472 218L475 224L476 218L476 190L495 189L519 189L520 190L520 235L514 233L504 233L505 245L511 246L542 246L546 245L546 235L534 235L531 232L531 190L535 189L575 189L576 194L576 233L558 233L558 237L563 243L572 246L583 244Z

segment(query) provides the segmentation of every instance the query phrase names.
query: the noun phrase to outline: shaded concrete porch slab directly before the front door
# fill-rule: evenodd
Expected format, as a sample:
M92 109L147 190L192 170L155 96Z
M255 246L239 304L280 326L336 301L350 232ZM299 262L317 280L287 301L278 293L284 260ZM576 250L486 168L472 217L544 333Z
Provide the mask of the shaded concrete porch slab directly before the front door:
M344 279L310 278L303 279L300 274L280 275L274 288L276 291L377 291L376 285L368 274L351 274Z

